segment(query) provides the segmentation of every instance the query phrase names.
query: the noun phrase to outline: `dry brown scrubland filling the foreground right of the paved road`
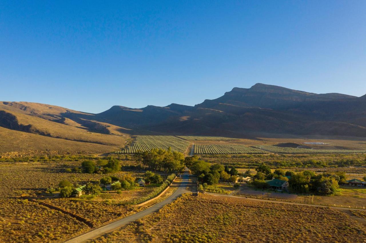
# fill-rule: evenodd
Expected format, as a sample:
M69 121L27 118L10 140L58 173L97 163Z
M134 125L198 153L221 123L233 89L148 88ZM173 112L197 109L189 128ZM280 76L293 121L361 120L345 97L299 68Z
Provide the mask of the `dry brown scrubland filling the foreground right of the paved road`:
M365 230L329 208L184 194L95 242L363 242Z

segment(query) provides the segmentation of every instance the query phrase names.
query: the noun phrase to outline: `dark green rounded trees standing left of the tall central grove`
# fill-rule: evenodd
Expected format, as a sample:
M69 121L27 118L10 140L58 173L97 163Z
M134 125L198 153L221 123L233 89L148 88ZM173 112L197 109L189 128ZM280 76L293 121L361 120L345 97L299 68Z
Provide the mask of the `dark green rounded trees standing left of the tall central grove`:
M119 160L113 159L112 156L110 156L108 160L99 159L97 163L92 160L86 160L81 163L81 171L88 174L109 174L115 173L120 170L121 165L119 163Z

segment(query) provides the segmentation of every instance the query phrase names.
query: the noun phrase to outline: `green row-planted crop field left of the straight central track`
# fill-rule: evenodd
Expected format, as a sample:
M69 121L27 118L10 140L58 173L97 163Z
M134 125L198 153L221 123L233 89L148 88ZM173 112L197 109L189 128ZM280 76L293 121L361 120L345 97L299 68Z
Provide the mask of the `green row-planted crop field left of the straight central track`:
M137 151L149 151L152 148L163 148L168 150L171 147L172 151L184 153L189 146L186 140L175 136L137 136L132 145L124 150L117 151L121 154L134 154Z

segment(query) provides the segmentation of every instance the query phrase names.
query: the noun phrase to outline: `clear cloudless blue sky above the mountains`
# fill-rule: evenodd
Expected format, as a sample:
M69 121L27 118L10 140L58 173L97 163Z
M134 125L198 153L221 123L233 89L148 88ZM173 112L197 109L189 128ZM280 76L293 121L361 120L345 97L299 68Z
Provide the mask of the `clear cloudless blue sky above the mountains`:
M98 113L257 82L366 93L366 1L0 1L2 101Z

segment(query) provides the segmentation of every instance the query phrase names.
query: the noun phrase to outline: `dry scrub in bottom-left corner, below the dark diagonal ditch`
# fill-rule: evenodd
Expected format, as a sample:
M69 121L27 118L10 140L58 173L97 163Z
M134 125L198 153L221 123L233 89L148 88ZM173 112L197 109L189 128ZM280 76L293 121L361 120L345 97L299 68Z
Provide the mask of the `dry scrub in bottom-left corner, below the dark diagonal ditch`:
M0 199L0 242L61 242L87 228L73 217L36 202Z

